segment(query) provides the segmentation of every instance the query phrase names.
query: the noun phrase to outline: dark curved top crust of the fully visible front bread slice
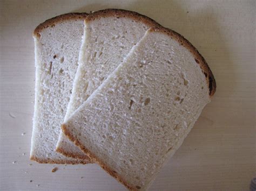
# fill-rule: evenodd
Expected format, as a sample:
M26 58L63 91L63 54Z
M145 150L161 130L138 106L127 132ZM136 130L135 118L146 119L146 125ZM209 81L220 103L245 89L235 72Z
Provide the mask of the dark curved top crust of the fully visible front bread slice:
M202 72L204 73L204 75L206 77L206 81L207 81L208 88L209 88L209 95L210 95L210 97L212 97L216 91L216 82L215 82L215 79L214 79L211 69L207 65L204 57L198 52L197 48L194 47L187 39L185 39L179 33L175 32L171 29L167 29L163 26L154 27L154 28L150 29L150 32L162 32L162 33L168 34L169 36L171 36L171 38L176 39L181 46L186 47L194 55L195 62L199 64Z

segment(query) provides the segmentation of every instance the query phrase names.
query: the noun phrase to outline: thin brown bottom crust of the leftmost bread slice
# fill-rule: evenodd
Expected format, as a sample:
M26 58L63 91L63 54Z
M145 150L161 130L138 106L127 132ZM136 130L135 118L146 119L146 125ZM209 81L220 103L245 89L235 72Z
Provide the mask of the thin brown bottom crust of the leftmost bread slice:
M36 161L41 164L68 164L68 165L78 165L78 164L90 164L90 161L86 160L62 160L62 159L40 159L35 156L30 156L30 160Z

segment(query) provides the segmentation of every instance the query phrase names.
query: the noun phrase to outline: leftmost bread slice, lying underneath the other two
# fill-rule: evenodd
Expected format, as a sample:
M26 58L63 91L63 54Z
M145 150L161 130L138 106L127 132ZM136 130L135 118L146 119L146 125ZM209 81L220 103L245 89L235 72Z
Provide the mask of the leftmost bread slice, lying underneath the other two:
M75 77L86 13L69 13L46 20L33 33L36 93L30 159L41 163L88 163L89 158L67 158L55 151Z

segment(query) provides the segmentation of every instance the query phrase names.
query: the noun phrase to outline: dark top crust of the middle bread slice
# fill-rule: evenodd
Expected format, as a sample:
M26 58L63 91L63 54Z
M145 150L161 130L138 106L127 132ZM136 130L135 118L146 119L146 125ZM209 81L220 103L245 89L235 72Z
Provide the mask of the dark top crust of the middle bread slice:
M105 17L116 17L116 18L126 17L126 18L131 18L135 22L143 22L150 27L160 26L153 19L145 15L140 15L137 12L127 11L123 9L105 9L105 10L93 12L86 17L85 22L90 22L92 20L105 18Z

